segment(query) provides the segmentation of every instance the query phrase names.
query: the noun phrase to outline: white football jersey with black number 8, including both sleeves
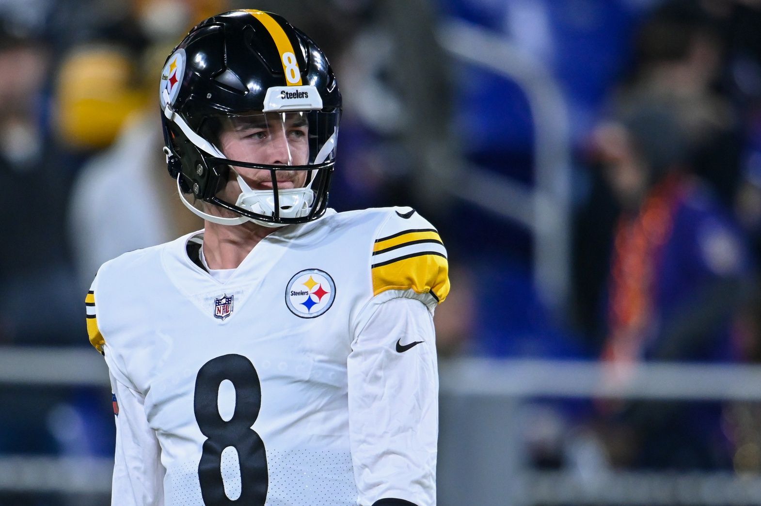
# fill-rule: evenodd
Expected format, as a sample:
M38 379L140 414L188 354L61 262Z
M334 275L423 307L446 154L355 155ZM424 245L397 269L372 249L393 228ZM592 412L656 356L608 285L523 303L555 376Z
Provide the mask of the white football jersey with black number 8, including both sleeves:
M113 504L435 504L449 281L431 224L331 210L224 282L201 242L119 256L88 293L119 408Z

